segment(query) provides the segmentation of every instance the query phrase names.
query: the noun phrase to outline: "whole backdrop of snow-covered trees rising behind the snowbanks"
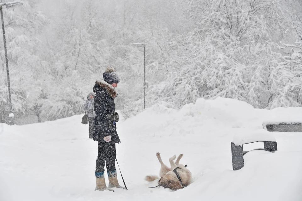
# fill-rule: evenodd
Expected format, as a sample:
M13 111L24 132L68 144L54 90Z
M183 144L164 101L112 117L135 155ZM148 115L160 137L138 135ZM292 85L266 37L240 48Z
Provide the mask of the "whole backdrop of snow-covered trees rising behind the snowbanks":
M126 117L141 111L143 47L132 43L146 46L147 107L217 96L258 108L301 105L300 26L286 21L288 13L302 15L299 6L298 0L25 0L3 10L15 116L44 121L82 113L108 65L120 76L117 109ZM1 43L0 53L3 122L9 110Z

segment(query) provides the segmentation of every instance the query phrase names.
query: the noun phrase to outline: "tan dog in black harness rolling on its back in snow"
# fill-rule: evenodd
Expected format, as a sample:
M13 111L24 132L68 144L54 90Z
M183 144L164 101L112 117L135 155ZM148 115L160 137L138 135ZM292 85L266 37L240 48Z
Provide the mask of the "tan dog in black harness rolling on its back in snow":
M179 164L179 160L182 158L183 154L179 155L177 159L176 155L169 159L171 168L163 163L159 153L157 153L156 156L161 165L159 171L160 178L158 176L148 175L145 177L146 181L153 182L154 180L159 179L158 186L170 188L175 191L188 186L192 182L191 172L186 168L186 166ZM174 162L175 159L176 161Z

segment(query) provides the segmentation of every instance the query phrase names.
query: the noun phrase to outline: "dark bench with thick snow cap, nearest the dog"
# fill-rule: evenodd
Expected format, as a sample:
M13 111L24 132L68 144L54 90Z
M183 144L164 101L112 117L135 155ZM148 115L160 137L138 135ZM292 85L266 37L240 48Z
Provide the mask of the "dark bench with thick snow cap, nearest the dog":
M233 170L239 170L244 166L243 155L249 151L243 151L243 144L254 142L263 142L264 147L264 149L254 150L266 150L271 152L277 151L276 139L270 133L267 133L267 131L249 134L236 134L234 135L233 142L231 142Z

